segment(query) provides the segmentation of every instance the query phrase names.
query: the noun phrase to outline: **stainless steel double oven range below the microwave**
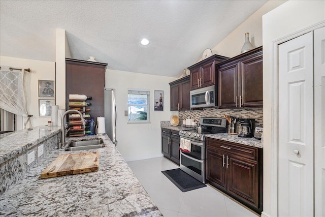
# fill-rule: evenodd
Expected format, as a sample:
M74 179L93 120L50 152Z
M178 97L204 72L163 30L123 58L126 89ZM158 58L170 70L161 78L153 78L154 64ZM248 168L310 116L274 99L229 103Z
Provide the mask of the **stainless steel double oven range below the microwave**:
M203 127L199 133L197 130L180 131L180 138L190 141L191 151L180 151L180 169L205 183L205 135L225 133L226 119L225 118L200 118L200 125Z

